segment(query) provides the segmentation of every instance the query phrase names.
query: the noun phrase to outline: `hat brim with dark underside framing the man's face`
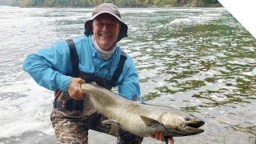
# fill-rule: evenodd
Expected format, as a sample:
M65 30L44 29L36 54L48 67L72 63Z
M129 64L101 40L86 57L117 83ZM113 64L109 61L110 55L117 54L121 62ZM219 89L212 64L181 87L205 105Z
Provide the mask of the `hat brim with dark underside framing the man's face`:
M94 14L94 16L90 18L90 20L86 21L84 34L86 34L87 37L90 34L93 34L93 30L92 30L93 20L94 18L98 17L98 15L100 14L111 14L114 16L114 18L117 18L118 21L120 22L121 28L120 28L120 33L118 34L117 42L119 42L122 38L126 38L128 36L127 35L128 26L124 22L122 22L121 18L119 18L116 14L111 13L110 11L101 11L97 14Z

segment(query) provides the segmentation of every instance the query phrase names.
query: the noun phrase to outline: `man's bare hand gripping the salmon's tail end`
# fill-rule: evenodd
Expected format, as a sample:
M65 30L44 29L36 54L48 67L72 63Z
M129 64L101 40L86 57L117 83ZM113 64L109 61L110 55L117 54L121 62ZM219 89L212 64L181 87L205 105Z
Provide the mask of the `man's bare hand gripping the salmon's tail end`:
M82 82L86 82L86 81L84 81L82 78L71 79L68 92L70 94L70 97L74 98L74 100L82 100L84 98L82 90L80 88L80 84Z

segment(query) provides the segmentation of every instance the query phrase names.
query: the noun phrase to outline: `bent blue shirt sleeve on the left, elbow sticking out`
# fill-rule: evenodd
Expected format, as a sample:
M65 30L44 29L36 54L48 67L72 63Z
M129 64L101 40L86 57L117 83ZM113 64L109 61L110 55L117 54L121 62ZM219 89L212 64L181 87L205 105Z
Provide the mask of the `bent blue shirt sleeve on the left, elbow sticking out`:
M38 85L48 90L68 90L71 77L70 51L66 42L30 54L23 63L25 70Z

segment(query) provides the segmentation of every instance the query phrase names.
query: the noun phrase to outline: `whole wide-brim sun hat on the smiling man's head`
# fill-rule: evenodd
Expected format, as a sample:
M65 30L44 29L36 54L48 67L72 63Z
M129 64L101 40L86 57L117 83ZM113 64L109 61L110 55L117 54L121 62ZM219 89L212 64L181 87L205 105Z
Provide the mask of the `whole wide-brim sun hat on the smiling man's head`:
M119 42L122 38L126 38L128 26L122 22L120 12L118 10L118 6L114 6L111 3L102 3L96 7L94 7L94 11L92 14L92 17L90 20L86 21L85 23L85 34L86 36L89 36L90 34L93 34L92 25L93 20L100 14L111 14L114 16L114 18L117 18L118 21L121 24L120 33L118 34L117 42Z

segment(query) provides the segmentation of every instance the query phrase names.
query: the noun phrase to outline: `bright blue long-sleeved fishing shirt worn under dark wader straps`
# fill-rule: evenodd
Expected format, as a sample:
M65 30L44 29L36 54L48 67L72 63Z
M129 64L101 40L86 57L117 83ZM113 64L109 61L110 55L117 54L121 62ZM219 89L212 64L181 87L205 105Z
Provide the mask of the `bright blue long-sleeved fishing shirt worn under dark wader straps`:
M118 66L122 50L118 46L111 58L103 60L90 37L74 38L78 51L79 70L110 80ZM67 74L72 70L67 42L58 42L54 46L39 50L36 54L30 54L23 63L23 69L38 85L49 90L67 91L71 81L71 77ZM131 100L136 97L141 98L138 73L129 55L115 85L118 86L119 95Z

